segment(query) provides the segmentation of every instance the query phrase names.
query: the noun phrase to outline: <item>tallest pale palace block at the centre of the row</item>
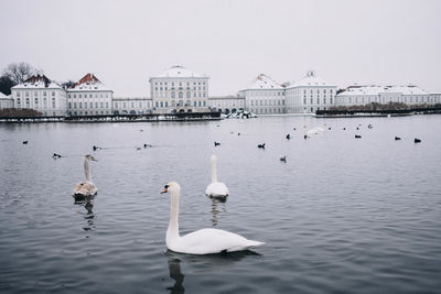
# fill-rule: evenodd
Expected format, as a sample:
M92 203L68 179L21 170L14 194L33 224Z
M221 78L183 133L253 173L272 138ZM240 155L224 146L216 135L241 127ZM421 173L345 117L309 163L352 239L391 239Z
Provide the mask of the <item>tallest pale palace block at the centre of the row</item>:
M154 112L208 110L208 77L181 65L150 78Z

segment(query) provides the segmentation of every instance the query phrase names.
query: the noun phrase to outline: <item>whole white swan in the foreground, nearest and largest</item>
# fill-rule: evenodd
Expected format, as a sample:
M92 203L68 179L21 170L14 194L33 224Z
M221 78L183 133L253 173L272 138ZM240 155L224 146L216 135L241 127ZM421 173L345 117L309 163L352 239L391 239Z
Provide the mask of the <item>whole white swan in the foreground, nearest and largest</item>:
M178 219L181 186L175 182L170 182L161 194L168 192L171 194L170 222L165 237L169 250L189 254L211 254L241 251L263 244L263 242L248 240L237 233L218 229L202 229L181 237Z

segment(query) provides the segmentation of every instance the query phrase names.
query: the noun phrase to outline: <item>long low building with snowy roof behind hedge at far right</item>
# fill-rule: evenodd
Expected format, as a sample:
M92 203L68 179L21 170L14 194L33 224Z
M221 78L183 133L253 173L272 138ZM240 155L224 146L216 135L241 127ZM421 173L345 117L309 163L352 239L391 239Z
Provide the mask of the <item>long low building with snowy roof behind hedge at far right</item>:
M441 102L440 94L430 94L417 86L349 86L335 97L335 106L363 106L372 102L409 106Z

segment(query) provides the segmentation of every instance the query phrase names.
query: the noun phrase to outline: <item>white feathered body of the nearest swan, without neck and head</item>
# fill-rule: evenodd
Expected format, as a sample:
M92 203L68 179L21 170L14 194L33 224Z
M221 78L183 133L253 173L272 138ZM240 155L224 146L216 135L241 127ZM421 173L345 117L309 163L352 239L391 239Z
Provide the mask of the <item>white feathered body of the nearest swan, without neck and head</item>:
M166 247L172 251L181 253L211 254L241 251L260 244L263 244L263 242L248 240L226 230L208 228L169 240Z

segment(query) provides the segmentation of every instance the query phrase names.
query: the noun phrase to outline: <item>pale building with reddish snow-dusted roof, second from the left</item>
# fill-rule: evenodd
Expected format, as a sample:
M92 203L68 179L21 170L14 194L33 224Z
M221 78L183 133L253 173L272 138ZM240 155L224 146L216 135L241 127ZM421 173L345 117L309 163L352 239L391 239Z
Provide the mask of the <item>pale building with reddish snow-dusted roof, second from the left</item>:
M112 96L114 91L89 73L67 89L68 116L111 115Z

